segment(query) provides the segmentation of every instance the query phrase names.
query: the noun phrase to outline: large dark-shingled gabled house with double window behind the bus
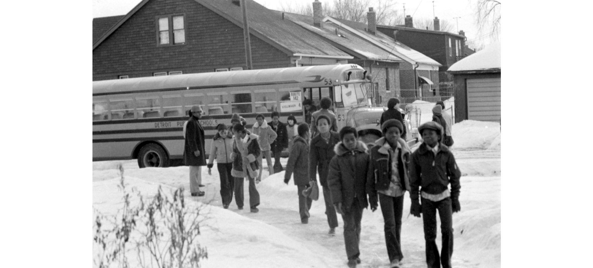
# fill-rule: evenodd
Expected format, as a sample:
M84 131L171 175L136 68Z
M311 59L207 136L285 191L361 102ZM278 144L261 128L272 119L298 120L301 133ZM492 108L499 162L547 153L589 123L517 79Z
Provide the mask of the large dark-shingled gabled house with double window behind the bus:
M245 2L253 69L353 59L276 12ZM144 0L124 16L93 19L93 81L235 69L247 69L239 1Z

